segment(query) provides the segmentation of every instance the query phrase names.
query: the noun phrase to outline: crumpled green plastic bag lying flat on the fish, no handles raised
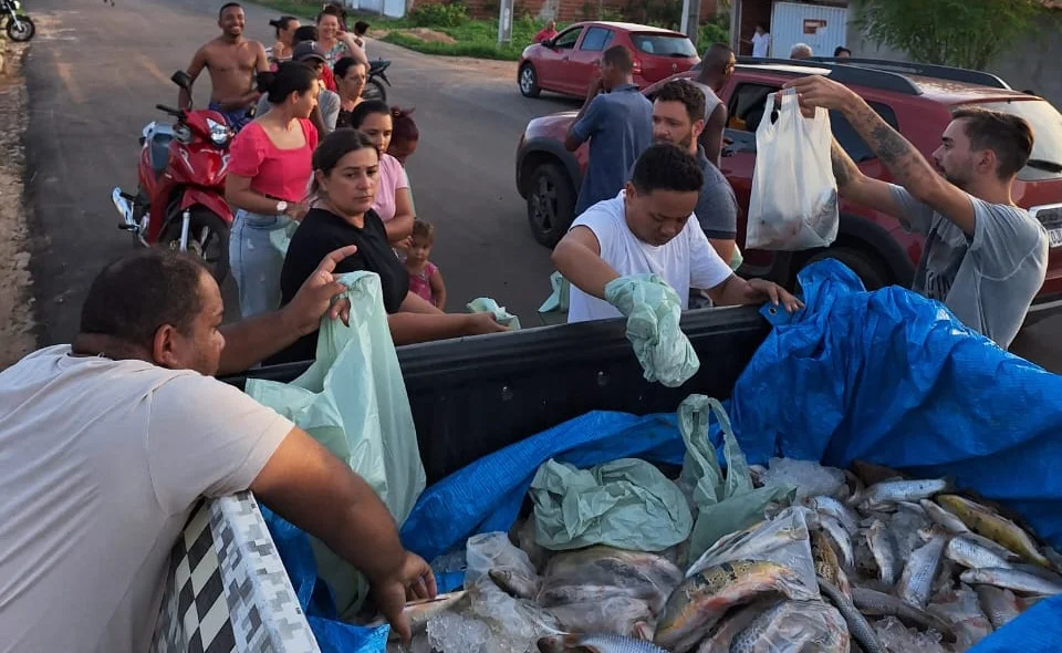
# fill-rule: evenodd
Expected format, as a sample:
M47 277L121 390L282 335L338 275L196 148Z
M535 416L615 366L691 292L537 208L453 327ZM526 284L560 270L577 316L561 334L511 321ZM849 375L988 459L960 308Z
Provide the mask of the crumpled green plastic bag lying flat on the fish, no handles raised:
M637 458L591 469L551 458L535 473L530 494L534 539L546 549L663 551L689 537L694 524L678 486Z

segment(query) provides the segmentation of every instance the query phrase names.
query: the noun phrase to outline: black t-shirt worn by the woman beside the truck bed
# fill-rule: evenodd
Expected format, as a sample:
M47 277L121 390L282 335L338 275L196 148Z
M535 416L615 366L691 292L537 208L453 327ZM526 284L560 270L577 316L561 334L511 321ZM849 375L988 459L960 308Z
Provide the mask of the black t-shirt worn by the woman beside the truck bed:
M409 292L409 273L398 262L384 222L369 210L365 214L365 226L361 229L340 216L321 209L311 209L302 224L295 229L288 246L288 256L280 273L281 305L299 292L303 282L313 274L321 260L331 251L347 245L356 245L357 252L335 267L335 273L366 270L379 274L379 286L384 296L384 309L388 313L398 311ZM317 351L317 332L300 338L291 346L267 360L267 364L312 361Z

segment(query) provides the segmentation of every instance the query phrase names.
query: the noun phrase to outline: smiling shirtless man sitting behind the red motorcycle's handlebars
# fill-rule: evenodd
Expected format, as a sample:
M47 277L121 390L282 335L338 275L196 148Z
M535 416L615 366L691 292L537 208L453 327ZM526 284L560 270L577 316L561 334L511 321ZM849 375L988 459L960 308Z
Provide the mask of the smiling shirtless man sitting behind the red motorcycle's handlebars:
M266 48L258 41L243 38L243 8L229 2L218 12L221 35L214 39L191 58L188 75L195 83L206 68L210 72L210 108L220 112L235 131L240 131L254 117L251 111L260 93L254 77L269 71ZM177 102L181 107L191 104L191 86L181 89Z

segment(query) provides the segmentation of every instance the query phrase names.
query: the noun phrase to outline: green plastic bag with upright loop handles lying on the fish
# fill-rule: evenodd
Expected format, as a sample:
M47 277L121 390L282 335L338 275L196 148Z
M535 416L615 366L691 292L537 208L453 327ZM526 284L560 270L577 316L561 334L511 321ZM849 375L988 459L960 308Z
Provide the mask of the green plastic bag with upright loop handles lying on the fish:
M722 431L726 474L708 438L712 415ZM678 407L678 428L686 443L686 459L678 483L691 488L698 510L689 539L690 559L700 557L722 536L761 521L769 504L793 499L796 493L793 486L753 487L749 464L733 435L730 417L717 400L699 394L686 397Z

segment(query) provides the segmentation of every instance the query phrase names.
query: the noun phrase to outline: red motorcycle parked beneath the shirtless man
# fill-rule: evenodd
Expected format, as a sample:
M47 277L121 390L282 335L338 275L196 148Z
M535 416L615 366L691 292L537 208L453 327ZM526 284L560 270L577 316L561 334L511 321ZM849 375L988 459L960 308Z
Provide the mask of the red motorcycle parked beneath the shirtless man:
M170 80L188 90L184 71ZM189 93L190 96L190 93ZM225 200L232 131L215 111L156 108L174 118L173 125L150 122L139 138L136 195L115 187L111 201L122 221L144 246L158 245L187 251L207 266L221 283L229 273L229 231L232 209Z

